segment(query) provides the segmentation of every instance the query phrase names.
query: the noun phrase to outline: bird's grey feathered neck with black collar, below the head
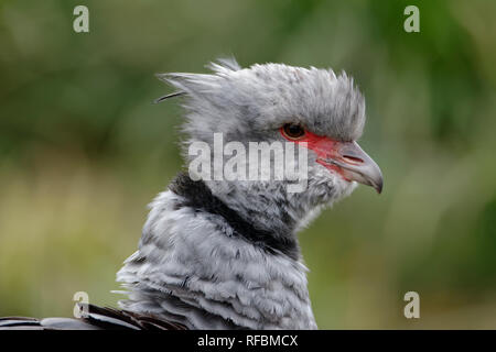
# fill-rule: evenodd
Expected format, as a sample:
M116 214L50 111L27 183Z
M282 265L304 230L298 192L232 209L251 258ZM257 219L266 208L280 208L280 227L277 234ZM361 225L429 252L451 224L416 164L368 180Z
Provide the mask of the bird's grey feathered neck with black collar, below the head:
M257 207L250 222L239 212L252 208L219 196L185 175L159 195L118 273L129 289L120 306L196 329L316 328L294 231L270 226Z

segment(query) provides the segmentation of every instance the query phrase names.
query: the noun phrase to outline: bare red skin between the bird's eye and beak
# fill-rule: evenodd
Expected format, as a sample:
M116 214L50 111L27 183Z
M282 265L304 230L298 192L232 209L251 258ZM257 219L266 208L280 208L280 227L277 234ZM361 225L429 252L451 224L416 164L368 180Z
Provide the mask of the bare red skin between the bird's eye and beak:
M330 138L317 135L315 133L309 132L305 130L305 134L298 139L291 139L284 133L284 128L280 128L281 135L293 143L303 144L306 148L313 151L317 155L317 163L323 165L325 168L331 169L339 174L345 180L351 182L351 179L344 176L344 170L337 165L325 163L326 158L339 158L339 154L337 153L339 142L331 140Z

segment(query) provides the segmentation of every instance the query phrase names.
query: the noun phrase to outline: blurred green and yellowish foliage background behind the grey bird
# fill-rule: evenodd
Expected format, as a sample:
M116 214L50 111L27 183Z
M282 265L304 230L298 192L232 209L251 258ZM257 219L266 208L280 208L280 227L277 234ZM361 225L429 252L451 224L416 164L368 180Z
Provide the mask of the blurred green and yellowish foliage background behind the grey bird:
M234 54L345 69L366 97L385 191L300 235L320 328L495 329L495 16L485 0L0 0L0 316L71 316L79 290L116 305L145 206L182 167L182 111L152 105L171 91L153 74Z

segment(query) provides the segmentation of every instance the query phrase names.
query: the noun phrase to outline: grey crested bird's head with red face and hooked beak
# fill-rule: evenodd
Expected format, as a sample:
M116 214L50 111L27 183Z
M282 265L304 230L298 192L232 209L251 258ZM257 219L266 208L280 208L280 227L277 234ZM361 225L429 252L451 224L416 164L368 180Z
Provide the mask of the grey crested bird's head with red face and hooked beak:
M356 183L381 191L380 168L357 143L365 124L364 97L345 73L283 64L241 68L234 59L209 68L212 74L158 75L177 89L158 101L186 97L186 146L198 141L213 145L214 134L222 133L224 143L279 141L304 148L308 189L298 201L308 202L305 211L351 194ZM222 185L268 193L274 187L267 182Z

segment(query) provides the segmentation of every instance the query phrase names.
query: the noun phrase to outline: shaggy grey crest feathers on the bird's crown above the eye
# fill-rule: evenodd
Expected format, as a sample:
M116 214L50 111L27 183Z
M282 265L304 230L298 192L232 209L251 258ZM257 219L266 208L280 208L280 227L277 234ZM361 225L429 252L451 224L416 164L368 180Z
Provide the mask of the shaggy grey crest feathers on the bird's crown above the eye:
M158 75L181 92L171 97L186 96L185 131L193 139L213 132L228 135L236 125L240 133L233 139L242 141L289 120L335 140L355 141L363 133L365 100L346 73L272 63L241 68L234 58L207 67L211 74Z

